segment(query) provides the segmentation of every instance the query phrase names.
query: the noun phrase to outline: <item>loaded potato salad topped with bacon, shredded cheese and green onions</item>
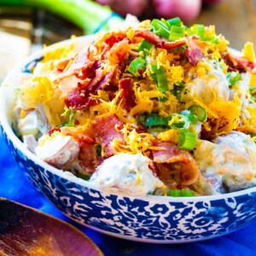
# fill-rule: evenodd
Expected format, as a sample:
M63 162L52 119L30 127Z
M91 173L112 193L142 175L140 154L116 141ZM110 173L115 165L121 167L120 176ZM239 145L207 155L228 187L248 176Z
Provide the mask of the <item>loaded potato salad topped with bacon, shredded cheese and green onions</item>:
M132 195L218 195L256 184L256 67L214 26L125 24L44 49L23 68L20 140L50 166Z

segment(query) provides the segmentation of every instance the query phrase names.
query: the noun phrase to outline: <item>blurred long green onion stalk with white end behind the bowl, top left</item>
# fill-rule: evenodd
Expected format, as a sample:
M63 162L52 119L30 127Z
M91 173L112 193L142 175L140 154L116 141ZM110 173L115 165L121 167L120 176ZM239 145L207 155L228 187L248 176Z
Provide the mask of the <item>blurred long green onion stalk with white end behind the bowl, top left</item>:
M43 9L69 20L85 34L108 31L123 21L108 6L91 0L0 0L0 6Z

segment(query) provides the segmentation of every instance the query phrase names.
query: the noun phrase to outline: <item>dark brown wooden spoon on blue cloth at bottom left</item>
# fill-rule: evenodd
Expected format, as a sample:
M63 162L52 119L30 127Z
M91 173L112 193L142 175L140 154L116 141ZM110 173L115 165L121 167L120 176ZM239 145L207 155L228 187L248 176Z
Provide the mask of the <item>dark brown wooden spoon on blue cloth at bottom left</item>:
M102 256L103 253L72 225L0 198L0 255Z

